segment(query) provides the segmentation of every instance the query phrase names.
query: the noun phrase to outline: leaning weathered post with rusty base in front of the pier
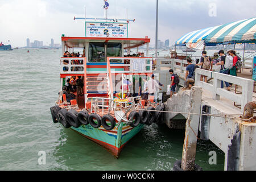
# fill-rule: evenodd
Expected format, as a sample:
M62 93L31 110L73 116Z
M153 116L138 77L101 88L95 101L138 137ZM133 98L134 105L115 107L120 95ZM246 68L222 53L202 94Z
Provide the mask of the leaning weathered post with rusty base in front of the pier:
M203 90L193 86L190 93L189 113L200 113ZM193 171L195 167L197 131L200 115L188 114L185 138L183 144L181 168L184 171Z

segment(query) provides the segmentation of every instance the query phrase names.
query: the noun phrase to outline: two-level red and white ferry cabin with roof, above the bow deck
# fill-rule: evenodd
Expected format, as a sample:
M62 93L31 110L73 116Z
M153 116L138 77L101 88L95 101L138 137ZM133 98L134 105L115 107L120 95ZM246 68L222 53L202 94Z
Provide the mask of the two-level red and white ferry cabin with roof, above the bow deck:
M81 79L82 84L72 85L80 108L84 108L86 102L95 97L113 98L118 93L130 96L136 94L139 85L143 85L143 77L147 80L152 75L152 57L148 57L150 39L147 37L62 36L61 42L63 56L60 61L60 90L63 90L64 85L71 85L71 82L67 83L68 78ZM144 44L147 46L145 57L126 56L130 55L131 48L137 48L138 53L139 47ZM80 56L71 56L71 53L77 53L76 49L80 50Z

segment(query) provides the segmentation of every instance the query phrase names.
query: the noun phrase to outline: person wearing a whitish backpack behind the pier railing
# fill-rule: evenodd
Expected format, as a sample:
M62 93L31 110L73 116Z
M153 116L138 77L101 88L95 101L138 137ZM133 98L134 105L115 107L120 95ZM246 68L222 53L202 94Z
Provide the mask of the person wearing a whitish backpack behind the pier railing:
M226 57L223 50L218 51L218 55L220 55L220 62L216 63L216 65L221 65L220 73L229 74L230 69L230 60L229 57ZM229 82L226 82L226 90L230 90ZM223 81L221 81L221 88L224 88Z

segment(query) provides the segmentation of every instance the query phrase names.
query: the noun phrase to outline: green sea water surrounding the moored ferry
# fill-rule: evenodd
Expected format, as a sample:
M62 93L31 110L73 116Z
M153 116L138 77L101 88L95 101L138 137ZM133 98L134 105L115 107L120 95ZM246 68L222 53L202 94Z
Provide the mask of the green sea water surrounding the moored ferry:
M0 52L0 170L172 170L181 159L184 130L145 126L115 159L52 122L49 108L60 88L60 55L47 49ZM39 165L39 151L46 152L46 164ZM210 151L216 151L217 164L209 164ZM224 152L199 140L196 163L203 170L223 170Z

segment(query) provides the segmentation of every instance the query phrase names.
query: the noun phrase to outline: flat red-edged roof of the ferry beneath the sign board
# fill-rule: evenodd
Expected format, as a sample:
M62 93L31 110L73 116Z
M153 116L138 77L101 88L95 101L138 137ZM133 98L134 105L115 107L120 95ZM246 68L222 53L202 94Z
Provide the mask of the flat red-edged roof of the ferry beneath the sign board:
M67 47L84 47L85 43L97 42L97 43L123 43L123 48L134 48L143 46L146 43L150 43L150 39L145 38L87 38L87 37L61 37L61 41L65 42Z

